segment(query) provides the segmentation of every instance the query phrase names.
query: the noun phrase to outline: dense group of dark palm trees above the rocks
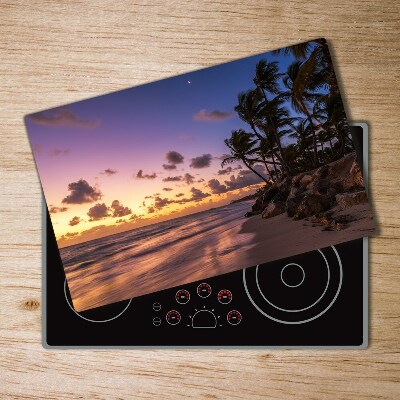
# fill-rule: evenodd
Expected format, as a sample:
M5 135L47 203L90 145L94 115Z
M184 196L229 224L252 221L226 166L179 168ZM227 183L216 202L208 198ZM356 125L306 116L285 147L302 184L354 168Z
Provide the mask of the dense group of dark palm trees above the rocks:
M262 59L254 87L239 93L235 111L248 129L225 140L226 164L242 161L264 182L318 168L354 151L329 49L324 39L275 52L292 55L286 71ZM265 167L265 175L256 165Z

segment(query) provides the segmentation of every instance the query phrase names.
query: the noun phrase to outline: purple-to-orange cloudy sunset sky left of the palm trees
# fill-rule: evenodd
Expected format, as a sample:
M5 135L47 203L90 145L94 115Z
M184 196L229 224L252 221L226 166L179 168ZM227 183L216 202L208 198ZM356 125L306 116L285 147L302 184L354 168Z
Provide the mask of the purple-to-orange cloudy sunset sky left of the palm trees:
M262 58L279 61L282 72L293 61L265 53L27 116L60 246L254 191L259 181L239 164L219 171L224 139L247 129L233 110L238 93L254 87Z

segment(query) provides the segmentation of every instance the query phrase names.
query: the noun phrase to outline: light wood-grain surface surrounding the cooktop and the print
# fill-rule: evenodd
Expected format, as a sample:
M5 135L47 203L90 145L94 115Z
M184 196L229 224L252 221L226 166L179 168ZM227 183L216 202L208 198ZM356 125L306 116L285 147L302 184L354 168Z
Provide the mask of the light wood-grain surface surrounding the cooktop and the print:
M0 398L400 398L399 11L396 0L0 0ZM43 349L41 189L23 116L316 37L330 41L351 120L371 127L369 348Z

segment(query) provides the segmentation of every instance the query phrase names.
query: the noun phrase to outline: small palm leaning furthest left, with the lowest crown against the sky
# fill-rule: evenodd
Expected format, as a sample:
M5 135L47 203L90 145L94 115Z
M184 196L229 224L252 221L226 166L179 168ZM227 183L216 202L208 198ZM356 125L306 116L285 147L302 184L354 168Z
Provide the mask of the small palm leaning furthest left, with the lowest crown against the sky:
M245 132L243 129L238 129L231 132L231 137L225 139L225 144L229 147L231 155L223 159L221 167L223 168L226 164L233 163L235 161L242 161L243 164L252 172L254 172L259 178L265 183L268 183L268 179L262 176L258 171L253 168L253 165L258 161L257 159L251 159L251 155L255 152L255 145L257 140L252 138L252 135Z

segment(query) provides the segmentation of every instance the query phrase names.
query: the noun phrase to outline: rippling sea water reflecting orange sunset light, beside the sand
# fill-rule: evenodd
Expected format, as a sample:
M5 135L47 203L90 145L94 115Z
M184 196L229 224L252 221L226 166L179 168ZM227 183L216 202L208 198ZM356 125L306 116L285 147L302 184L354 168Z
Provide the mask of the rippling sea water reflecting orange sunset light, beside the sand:
M249 266L239 202L60 249L77 311Z

